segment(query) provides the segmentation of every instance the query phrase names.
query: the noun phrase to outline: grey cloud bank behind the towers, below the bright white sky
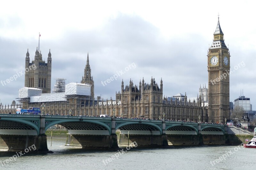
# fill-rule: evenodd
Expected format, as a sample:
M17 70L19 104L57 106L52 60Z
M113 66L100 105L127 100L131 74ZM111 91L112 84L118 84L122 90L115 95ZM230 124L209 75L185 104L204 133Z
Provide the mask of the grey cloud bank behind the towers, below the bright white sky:
M189 97L196 97L199 85L208 84L206 55L208 43L211 40L205 39L199 33L184 35L184 37L175 37L167 41L157 27L142 18L118 15L114 19L109 19L104 26L94 30L66 30L63 37L51 41L45 41L42 38L40 49L43 58L47 60L47 54L51 48L52 88L55 83L54 78L67 78L66 83L80 82L84 75L89 51L95 96L101 95L105 99L110 97L115 99L115 92L121 90L122 79L125 85L129 84L130 78L134 84L138 85L143 77L145 82L149 83L153 76L159 85L161 78L163 79L165 96L187 92ZM18 42L0 39L0 47L4 49L0 50L0 80L13 75L12 67L22 66L25 69L27 48L32 60L36 46L38 46L36 41ZM253 52L244 54L239 49L234 49L231 55L232 64L239 62L238 58L242 55L246 64L248 62L246 67L254 71L254 68L251 69L253 62L247 59L253 56ZM8 60L5 60L6 57ZM106 86L101 84L101 81L110 78L116 74L116 71L124 70L133 62L137 65L135 69L127 71ZM255 81L248 80L243 75L234 75L236 77L232 75L230 77L230 101L239 95L235 91L239 88L240 80ZM6 104L11 103L18 97L18 89L23 85L24 77L15 83L12 82L12 85L4 88L0 86L1 101ZM249 89L246 90L249 91ZM254 92L250 90L248 93L251 95L248 97L251 97L253 102L256 101Z

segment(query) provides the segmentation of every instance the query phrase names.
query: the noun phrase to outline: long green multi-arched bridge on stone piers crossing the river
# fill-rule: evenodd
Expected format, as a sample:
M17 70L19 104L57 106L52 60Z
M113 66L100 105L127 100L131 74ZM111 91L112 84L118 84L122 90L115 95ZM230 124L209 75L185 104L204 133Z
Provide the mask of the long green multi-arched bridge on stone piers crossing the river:
M138 146L225 144L226 125L162 120L61 115L0 114L0 150L33 144L47 151L45 131L59 124L68 130L66 145L117 148ZM120 130L119 137L116 130ZM117 140L118 139L118 140Z

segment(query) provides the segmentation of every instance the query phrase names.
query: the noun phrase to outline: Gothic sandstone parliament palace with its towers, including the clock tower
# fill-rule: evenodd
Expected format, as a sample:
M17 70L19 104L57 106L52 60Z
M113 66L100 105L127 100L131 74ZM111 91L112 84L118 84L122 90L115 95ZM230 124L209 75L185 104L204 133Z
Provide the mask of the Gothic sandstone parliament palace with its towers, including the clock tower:
M84 68L81 84L91 86L90 95L65 95L64 91L51 92L51 68L52 57L49 51L47 63L42 61L42 54L36 49L35 59L30 63L29 53L26 54L26 68L31 64L36 64L35 70L30 70L25 74L24 88L37 88L42 90L43 95L51 95L41 101L32 99L33 97L19 97L23 108L40 107L44 114L59 115L111 115L120 117L144 117L147 119L165 119L174 121L193 122L213 122L224 123L225 118L229 119L229 74L226 78L221 78L226 70L230 68L230 54L225 45L223 32L218 23L213 34L212 46L208 49L208 106L205 105L203 97L199 95L192 101L187 99L187 95L177 94L173 97L163 96L164 81L160 84L155 78L146 82L144 78L138 85L134 85L132 79L124 85L121 82L120 91L116 92L116 100L104 100L100 97L94 98L94 81L92 69L89 63L89 54ZM212 83L214 82L214 83ZM50 99L51 98L51 99ZM9 106L1 103L0 113L10 112ZM8 108L8 109L7 109ZM12 109L11 109L12 110ZM12 111L13 112L13 111Z

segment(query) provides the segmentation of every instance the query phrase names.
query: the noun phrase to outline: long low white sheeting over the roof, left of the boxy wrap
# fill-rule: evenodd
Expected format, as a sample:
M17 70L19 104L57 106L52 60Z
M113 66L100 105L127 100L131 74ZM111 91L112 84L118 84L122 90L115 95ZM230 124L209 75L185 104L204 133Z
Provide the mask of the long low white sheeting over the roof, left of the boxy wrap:
M31 96L30 103L35 102L51 102L51 101L67 101L65 92L59 93L43 93L40 96Z

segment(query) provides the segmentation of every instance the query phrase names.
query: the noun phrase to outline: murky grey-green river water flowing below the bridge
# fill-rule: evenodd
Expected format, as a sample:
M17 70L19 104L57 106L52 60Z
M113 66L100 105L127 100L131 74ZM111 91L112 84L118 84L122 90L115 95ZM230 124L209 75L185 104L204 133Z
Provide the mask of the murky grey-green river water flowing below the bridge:
M65 139L48 139L54 153L0 152L0 169L255 169L256 149L241 146L180 146L85 150L65 146ZM126 152L125 152L126 151ZM25 152L24 152L25 153ZM4 162L5 161L5 162ZM7 163L8 162L8 163ZM254 167L254 168L253 168Z

